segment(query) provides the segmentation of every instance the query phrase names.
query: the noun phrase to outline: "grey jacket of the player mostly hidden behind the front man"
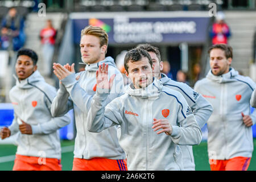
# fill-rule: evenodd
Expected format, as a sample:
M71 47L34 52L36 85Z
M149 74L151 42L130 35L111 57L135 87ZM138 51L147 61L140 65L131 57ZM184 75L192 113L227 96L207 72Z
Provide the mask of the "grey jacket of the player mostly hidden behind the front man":
M196 122L202 128L212 114L212 105L200 94L195 92L190 86L183 82L177 82L168 78L164 73L161 74L160 81L163 86L180 92L191 107L195 115ZM183 156L183 166L186 171L195 171L195 162L192 146L180 146Z

